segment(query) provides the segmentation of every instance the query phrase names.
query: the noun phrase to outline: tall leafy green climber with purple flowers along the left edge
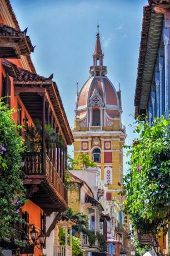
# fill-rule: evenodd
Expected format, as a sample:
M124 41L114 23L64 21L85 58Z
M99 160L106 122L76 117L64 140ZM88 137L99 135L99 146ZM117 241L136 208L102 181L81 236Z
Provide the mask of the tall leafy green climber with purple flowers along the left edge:
M21 126L14 124L13 112L0 100L0 242L13 236L14 223L23 222L19 208L26 200L21 171L23 141L17 132Z

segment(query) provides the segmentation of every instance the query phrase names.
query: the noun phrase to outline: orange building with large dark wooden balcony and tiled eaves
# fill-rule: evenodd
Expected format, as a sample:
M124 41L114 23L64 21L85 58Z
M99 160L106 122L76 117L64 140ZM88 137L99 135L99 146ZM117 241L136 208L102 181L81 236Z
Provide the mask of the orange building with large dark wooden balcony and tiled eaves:
M23 227L16 225L16 235L1 241L0 247L10 249L4 251L8 253L6 255L39 256L46 246L46 231L48 234L52 231L46 230L46 216L53 212L61 214L67 209L64 171L67 169L67 145L72 144L73 137L56 82L52 80L52 75L46 78L36 73L30 57L34 47L26 34L27 29L21 31L19 28L11 3L1 0L0 97L10 96L4 101L11 109L17 110L13 119L16 124L23 126L21 135L25 143L29 142L29 148L22 155L27 202L22 206L21 215L26 223ZM40 143L34 148L27 131L36 128L37 120L41 124ZM48 147L46 125L50 125L62 145ZM33 137L32 143L34 141L36 137ZM27 244L19 252L16 241L21 241L23 234L24 238L27 236ZM38 237L43 240L42 244L38 244ZM48 242L48 238L46 240Z

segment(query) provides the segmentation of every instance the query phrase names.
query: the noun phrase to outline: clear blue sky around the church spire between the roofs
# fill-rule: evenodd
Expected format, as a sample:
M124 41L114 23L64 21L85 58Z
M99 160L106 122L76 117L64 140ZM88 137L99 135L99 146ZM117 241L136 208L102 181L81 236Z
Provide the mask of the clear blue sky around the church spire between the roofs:
M54 73L68 121L74 124L76 82L89 77L97 23L108 78L122 90L122 122L134 137L136 85L143 6L147 0L11 0L21 29L36 45L31 57L39 75ZM72 147L69 148L69 153ZM124 157L126 161L126 157Z

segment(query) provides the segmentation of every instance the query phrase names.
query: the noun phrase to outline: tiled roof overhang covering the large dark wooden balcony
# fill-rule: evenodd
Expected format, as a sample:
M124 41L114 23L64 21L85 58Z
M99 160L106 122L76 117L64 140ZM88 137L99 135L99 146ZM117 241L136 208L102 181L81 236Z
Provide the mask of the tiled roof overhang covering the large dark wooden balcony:
M9 62L5 59L2 60L2 65L4 66L4 68L6 68L9 75L14 77L15 87L33 87L37 85L46 87L46 90L56 112L59 124L61 125L64 137L66 138L67 144L71 145L74 141L72 131L68 124L66 112L63 107L61 96L59 95L57 84L56 82L52 81L52 76L48 78L39 76L28 70L18 68L12 62Z

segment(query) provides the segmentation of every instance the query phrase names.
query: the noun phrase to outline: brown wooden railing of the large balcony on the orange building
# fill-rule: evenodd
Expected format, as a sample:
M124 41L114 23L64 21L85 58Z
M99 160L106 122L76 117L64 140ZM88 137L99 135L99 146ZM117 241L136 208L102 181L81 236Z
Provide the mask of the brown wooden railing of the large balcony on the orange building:
M26 175L46 176L67 202L67 189L47 154L43 152L24 152L22 159L24 162L23 171Z

